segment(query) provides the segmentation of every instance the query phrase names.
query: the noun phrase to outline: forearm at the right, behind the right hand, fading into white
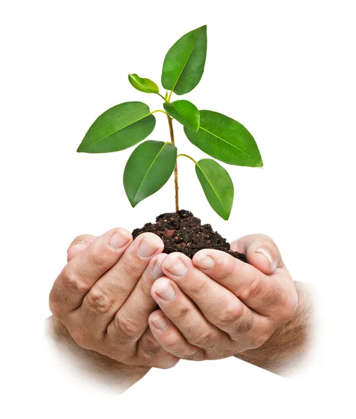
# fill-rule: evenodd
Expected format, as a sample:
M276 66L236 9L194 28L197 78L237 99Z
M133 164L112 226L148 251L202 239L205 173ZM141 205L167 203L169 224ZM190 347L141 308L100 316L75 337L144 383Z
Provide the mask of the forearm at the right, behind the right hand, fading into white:
M237 354L237 358L267 369L276 374L292 372L305 358L313 332L314 312L312 288L309 284L295 282L298 305L295 316L260 348Z

